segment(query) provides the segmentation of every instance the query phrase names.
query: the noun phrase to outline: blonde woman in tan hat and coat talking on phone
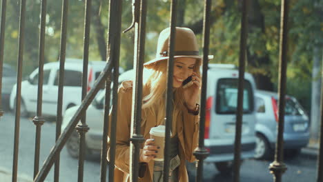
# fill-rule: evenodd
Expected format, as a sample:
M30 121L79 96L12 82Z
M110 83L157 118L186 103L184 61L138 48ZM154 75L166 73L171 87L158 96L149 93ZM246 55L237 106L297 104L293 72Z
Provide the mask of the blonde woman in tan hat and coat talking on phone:
M141 134L144 136L145 142L141 145L139 156L141 162L139 181L159 181L159 179L162 179L164 164L153 160L159 146L155 145L153 139L150 139L149 132L150 128L164 125L169 37L170 28L166 28L159 34L156 58L144 64L144 67L148 69L149 76L144 76L147 79L144 80L143 85ZM197 116L199 105L197 103L199 103L199 68L202 59L198 50L193 31L189 28L176 28L170 181L188 181L185 161L195 161L193 152L197 147L199 129ZM190 76L192 76L193 84L185 88L182 83ZM132 92L133 81L121 83L118 90L115 181L129 180ZM110 143L109 139L108 143Z

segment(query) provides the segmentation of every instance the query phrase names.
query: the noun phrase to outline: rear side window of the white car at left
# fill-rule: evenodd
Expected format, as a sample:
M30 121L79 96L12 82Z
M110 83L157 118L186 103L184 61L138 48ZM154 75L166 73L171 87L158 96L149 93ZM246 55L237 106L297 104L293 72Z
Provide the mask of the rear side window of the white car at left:
M58 85L59 70L56 72L54 85ZM64 86L81 87L82 85L82 72L75 70L65 70L64 72Z

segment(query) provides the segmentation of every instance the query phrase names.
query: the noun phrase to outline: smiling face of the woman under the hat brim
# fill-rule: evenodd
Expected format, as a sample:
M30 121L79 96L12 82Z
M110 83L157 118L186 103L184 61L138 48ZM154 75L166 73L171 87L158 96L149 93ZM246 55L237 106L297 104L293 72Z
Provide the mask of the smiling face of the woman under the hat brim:
M182 87L183 81L193 74L195 63L196 58L181 57L175 59L173 88Z

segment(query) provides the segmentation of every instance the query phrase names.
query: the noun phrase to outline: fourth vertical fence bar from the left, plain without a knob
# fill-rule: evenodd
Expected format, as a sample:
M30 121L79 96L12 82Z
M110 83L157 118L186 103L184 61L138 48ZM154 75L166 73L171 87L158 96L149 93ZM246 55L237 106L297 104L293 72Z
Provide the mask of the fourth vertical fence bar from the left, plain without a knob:
M59 47L59 75L58 75L58 95L57 95L57 118L56 118L56 141L61 135L62 107L63 107L63 83L66 57L66 37L68 25L68 0L63 0L61 11L61 41ZM54 167L54 181L59 181L59 161L60 154L56 156Z

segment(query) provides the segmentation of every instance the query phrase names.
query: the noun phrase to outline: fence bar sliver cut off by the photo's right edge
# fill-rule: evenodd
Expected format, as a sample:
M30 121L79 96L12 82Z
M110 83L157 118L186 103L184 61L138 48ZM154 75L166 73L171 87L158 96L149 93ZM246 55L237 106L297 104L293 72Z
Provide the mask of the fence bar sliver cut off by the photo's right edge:
M317 157L317 182L323 182L323 60L321 70L321 125L320 125L320 149Z

